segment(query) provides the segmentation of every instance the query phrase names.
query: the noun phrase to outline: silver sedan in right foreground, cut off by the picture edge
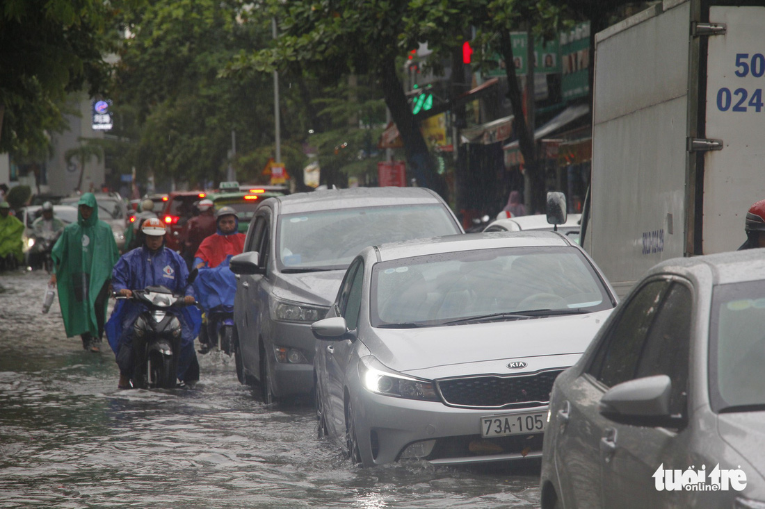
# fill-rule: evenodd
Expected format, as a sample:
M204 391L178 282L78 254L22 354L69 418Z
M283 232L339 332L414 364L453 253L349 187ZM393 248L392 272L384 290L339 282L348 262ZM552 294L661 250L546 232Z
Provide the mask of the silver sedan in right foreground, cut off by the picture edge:
M542 507L765 507L765 251L653 267L555 381Z

